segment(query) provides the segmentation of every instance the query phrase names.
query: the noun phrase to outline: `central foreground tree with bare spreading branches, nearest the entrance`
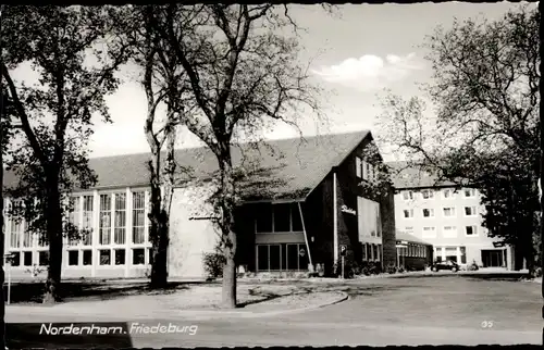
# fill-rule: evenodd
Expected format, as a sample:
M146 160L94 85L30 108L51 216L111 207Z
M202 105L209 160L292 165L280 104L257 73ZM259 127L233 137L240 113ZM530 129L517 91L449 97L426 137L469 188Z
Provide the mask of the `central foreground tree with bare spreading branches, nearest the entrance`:
M165 5L153 16L156 33L175 50L198 111L181 114L184 125L215 154L213 198L225 257L222 303L236 307L236 233L239 202L231 147L244 135L258 142L274 121L297 127L304 107L321 116L307 68L297 62L296 26L287 8L262 5ZM189 23L180 30L180 23Z

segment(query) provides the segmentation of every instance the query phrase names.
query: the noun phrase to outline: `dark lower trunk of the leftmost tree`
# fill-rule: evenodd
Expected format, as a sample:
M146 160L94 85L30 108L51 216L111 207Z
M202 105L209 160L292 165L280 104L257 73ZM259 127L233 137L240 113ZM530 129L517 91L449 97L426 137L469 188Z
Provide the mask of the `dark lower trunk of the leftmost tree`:
M47 236L49 241L49 267L47 272L44 303L54 303L60 300L62 272L62 211L58 186L48 184L46 204Z

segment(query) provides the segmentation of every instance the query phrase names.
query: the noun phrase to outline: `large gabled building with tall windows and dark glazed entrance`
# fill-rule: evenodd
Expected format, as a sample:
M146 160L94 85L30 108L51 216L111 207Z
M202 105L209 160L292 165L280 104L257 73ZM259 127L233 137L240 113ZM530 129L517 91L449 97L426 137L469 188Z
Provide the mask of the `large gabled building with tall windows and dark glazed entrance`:
M341 248L348 261L395 264L393 191L384 197L360 186L374 168L364 160L372 142L364 130L274 140L259 151L233 147L234 165L254 171L238 185L237 264L254 272L323 264L332 273ZM203 277L203 254L218 242L206 201L214 190L217 160L206 148L178 149L175 158L190 171L177 176L174 190L169 276ZM64 278L141 277L149 272L148 160L148 153L90 160L98 184L71 193L70 214L74 224L90 230L78 241L65 239ZM9 174L4 185L16 182ZM24 223L8 220L4 229L5 250L14 253L12 276L29 276L33 265L47 265L48 247Z

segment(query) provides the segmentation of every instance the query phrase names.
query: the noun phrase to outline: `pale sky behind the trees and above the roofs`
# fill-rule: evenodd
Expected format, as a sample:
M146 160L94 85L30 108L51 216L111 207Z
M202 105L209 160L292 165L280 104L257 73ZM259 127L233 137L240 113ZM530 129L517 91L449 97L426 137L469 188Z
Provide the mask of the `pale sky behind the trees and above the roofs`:
M299 59L306 63L312 60L312 78L326 91L323 112L327 126L318 129L313 116L308 115L300 123L302 134L374 130L380 114L376 93L388 88L401 96L418 96L417 84L430 80L432 72L424 60L424 50L419 47L425 35L438 25L447 28L454 17L494 20L518 5L509 2L344 4L337 5L333 14L320 5L292 5L293 17L306 28L299 33L305 48ZM13 74L15 79L28 75L32 72L23 70ZM95 124L89 141L91 157L149 151L144 136L147 102L140 86L126 82L107 101L113 123ZM298 136L287 125L277 125L264 135L270 139ZM187 130L178 139L177 147L199 143Z

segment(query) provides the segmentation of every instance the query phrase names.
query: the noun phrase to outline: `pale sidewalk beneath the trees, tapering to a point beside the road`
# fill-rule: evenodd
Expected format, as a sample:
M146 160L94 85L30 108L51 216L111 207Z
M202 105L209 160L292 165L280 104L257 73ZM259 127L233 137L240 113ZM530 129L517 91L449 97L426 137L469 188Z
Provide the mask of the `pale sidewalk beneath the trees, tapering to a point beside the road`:
M178 318L178 317L262 317L312 310L337 303L348 297L343 291L274 295L270 299L248 298L242 295L236 310L223 310L210 302L220 302L212 288L200 288L198 295L172 293L161 296L131 296L113 300L72 301L54 305L7 305L7 315L92 316L108 320ZM193 296L193 300L190 299ZM218 299L219 297L219 299ZM198 302L196 299L199 299ZM191 304L193 303L193 304Z

